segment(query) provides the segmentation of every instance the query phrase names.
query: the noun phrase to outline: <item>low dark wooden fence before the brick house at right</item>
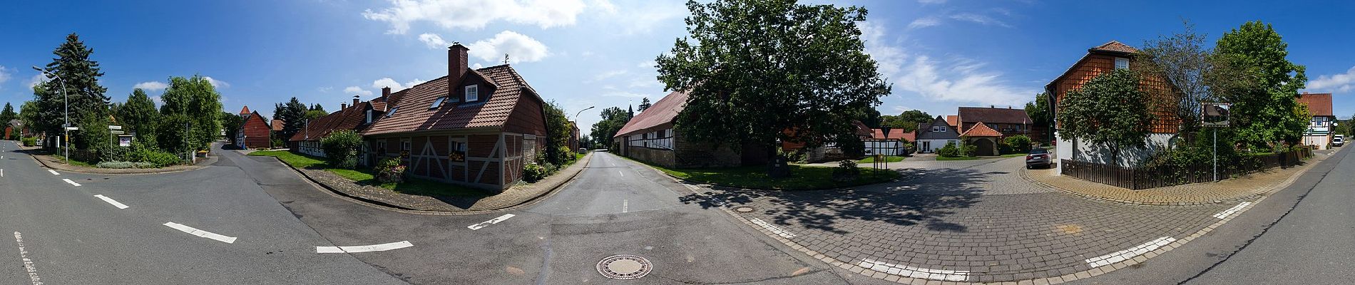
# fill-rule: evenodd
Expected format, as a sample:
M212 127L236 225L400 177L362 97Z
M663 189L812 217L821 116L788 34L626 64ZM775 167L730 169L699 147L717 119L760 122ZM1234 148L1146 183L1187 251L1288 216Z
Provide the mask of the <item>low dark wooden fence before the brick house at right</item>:
M1290 167L1309 157L1313 157L1313 150L1310 149L1255 155L1249 158L1252 159L1251 163L1237 165L1241 167L1220 165L1218 177L1228 178L1234 174L1247 174L1272 167ZM1214 181L1214 170L1210 166L1187 169L1169 166L1123 167L1069 159L1061 159L1060 163L1064 166L1064 176L1134 190Z

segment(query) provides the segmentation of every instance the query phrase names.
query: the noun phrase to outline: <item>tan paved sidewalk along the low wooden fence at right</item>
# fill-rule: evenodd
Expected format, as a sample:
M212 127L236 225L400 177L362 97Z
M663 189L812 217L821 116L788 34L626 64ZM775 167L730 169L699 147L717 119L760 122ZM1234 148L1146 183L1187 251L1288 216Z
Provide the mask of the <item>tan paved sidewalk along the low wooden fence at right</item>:
M1255 200L1256 197L1279 190L1298 173L1306 172L1309 167L1331 155L1331 151L1314 153L1312 159L1304 161L1304 165L1298 167L1270 169L1218 182L1186 184L1142 190L1131 190L1060 176L1058 169L1054 167L1035 170L1020 169L1020 173L1023 178L1027 178L1031 182L1092 200L1141 205L1236 204L1238 201Z

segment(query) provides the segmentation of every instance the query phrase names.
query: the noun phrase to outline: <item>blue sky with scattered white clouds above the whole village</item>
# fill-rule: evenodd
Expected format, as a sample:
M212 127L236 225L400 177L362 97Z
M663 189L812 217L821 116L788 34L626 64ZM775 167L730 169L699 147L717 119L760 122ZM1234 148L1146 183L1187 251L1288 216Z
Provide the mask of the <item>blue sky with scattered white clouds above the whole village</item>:
M1247 20L1272 23L1290 61L1308 66L1310 92L1333 92L1340 118L1355 113L1355 23L1350 3L1156 1L836 1L870 9L867 51L894 84L882 113L961 105L1020 108L1088 47L1141 46L1182 30L1182 19L1217 39ZM462 42L472 63L512 65L546 100L583 126L606 107L657 100L653 58L686 34L682 1L400 0L400 1L18 1L0 9L0 101L30 100L38 73L69 32L95 49L100 82L123 101L152 96L171 76L218 84L226 111L266 116L298 97L327 109L444 76L446 46ZM57 19L60 15L68 16ZM1213 42L1210 42L1210 46Z

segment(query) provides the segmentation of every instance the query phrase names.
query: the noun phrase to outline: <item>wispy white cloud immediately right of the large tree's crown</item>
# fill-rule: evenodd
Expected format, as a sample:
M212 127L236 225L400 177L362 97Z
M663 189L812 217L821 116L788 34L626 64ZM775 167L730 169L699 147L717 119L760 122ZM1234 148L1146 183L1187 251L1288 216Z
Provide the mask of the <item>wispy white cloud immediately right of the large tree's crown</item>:
M885 27L875 23L862 23L860 28L866 53L879 62L879 73L894 84L896 93L913 92L932 101L1005 105L1028 101L1038 92L1038 88L1007 82L1000 72L985 70L985 63L978 61L938 61L909 54L885 42Z

